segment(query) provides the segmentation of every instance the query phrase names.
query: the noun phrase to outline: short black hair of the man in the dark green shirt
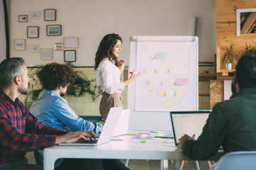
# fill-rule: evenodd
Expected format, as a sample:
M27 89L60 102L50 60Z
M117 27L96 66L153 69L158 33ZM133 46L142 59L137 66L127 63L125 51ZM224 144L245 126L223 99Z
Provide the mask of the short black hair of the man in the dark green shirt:
M256 88L256 55L243 55L235 67L240 89Z

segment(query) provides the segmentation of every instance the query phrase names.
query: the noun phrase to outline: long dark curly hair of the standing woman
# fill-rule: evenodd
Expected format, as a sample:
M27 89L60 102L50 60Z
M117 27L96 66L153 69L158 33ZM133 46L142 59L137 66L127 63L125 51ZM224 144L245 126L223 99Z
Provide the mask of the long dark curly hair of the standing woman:
M114 57L112 52L114 45L117 43L117 40L122 42L122 38L118 34L112 33L105 35L105 37L100 41L100 45L95 55L95 70L97 70L100 62L105 57L107 57L110 61L114 60L115 65L117 65L117 57Z

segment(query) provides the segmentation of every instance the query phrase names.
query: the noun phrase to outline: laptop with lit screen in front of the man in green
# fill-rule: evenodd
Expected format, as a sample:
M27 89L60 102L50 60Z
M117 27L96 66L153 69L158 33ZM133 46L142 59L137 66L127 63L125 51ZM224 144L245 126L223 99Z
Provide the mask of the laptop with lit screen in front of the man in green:
M171 112L171 124L174 132L174 142L177 146L178 139L183 135L193 136L197 140L203 132L203 126L210 111L176 111Z

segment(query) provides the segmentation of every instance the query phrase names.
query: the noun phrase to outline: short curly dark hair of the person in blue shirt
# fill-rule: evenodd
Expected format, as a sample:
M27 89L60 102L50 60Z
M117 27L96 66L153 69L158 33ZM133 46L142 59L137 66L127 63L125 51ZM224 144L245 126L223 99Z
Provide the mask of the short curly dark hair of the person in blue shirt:
M55 90L58 86L72 84L77 77L72 67L65 64L50 63L46 64L37 72L38 79L41 81L43 89Z

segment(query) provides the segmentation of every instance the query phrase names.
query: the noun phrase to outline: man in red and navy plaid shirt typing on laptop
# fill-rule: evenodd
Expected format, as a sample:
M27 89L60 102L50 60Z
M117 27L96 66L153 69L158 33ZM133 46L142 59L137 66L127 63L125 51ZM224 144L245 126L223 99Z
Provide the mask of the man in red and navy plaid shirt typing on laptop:
M67 132L39 123L23 103L20 94L28 94L28 69L22 58L6 59L0 64L0 169L43 169L28 164L26 152L58 143L76 142L94 137L92 131Z

